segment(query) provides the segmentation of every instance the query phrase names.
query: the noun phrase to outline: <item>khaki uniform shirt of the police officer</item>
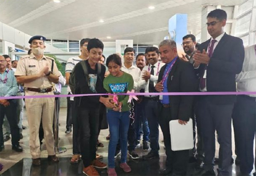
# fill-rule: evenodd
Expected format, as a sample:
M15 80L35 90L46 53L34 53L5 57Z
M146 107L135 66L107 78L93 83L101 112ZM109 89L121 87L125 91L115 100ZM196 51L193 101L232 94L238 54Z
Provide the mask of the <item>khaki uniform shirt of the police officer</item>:
M38 60L35 58L33 53L21 58L18 61L17 69L15 71L15 76L31 76L38 74L44 67L48 66L49 71L52 68L52 58L44 56ZM61 76L55 61L53 62L52 74L55 76ZM49 81L47 76L40 77L32 82L25 83L25 88L50 88L52 87L52 82Z

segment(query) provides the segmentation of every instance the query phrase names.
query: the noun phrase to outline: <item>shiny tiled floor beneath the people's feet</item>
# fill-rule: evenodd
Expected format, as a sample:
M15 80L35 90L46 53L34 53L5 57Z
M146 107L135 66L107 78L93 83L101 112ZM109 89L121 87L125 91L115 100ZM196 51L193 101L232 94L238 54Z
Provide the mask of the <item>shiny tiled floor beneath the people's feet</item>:
M28 121L26 117L26 110L24 114L23 124L28 127ZM28 128L23 131L24 138L20 141L24 151L21 153L15 152L11 149L10 140L5 143L5 149L0 152L0 163L4 165L3 170L0 172L2 176L80 176L82 174L82 162L76 165L69 163L72 156L72 133L65 134L65 121L66 121L66 108L61 108L60 111L60 146L66 147L67 151L59 154L60 162L57 164L51 164L47 161L47 151L43 144L41 157L42 165L40 167L32 167L32 159L29 149L29 130ZM99 147L97 152L103 155L103 161L107 162L107 146L108 141L105 137L108 135L108 130L101 130L99 139L104 144L104 147ZM160 141L162 140L162 134L160 133ZM234 144L234 143L233 143ZM219 146L216 146L219 148ZM233 145L234 148L234 145ZM140 156L147 152L142 151L141 147L137 147L136 151ZM157 176L159 168L164 167L165 163L165 150L163 149L163 143L160 142L160 159L142 161L141 159L132 160L128 158L128 164L131 166L132 172L127 174L128 176ZM234 149L233 149L234 154ZM216 151L218 156L218 150ZM235 156L233 156L235 158ZM118 159L117 159L118 163ZM192 165L190 165L192 168ZM217 168L217 166L216 166ZM216 169L215 168L215 169ZM106 170L99 170L101 176L106 176ZM117 167L118 175L126 175L122 170ZM236 176L239 173L239 167L232 165L232 175Z

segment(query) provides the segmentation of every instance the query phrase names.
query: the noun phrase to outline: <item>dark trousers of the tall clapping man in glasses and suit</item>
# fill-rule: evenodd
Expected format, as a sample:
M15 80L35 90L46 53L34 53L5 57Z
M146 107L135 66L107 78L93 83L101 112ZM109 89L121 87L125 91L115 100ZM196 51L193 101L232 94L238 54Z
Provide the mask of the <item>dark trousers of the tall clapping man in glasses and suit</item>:
M217 131L220 144L218 171L224 176L231 175L231 117L233 107L234 104L214 104L210 96L200 96L198 98L197 110L204 146L204 169L213 169L216 149L215 131Z

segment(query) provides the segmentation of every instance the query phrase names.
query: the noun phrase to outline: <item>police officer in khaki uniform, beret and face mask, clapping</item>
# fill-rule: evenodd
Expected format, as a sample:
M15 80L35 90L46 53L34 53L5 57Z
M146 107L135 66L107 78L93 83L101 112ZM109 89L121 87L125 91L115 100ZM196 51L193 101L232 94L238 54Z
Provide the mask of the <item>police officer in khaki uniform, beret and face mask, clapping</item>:
M25 96L53 95L52 83L58 83L61 76L54 59L44 56L45 37L33 36L29 43L32 49L31 55L27 55L18 61L15 76L19 84L24 84ZM52 67L53 64L53 67ZM38 131L42 119L48 160L58 162L54 151L53 115L54 98L28 98L25 99L29 128L30 151L32 164L39 166L40 143Z

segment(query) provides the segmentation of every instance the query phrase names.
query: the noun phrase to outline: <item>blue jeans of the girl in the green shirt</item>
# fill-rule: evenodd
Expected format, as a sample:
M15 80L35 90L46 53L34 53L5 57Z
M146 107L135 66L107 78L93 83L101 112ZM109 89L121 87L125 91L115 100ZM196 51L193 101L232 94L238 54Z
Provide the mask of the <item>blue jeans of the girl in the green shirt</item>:
M127 134L129 128L129 111L117 112L107 110L110 141L108 144L108 167L115 168L115 152L118 140L121 145L121 163L126 163L127 158Z

